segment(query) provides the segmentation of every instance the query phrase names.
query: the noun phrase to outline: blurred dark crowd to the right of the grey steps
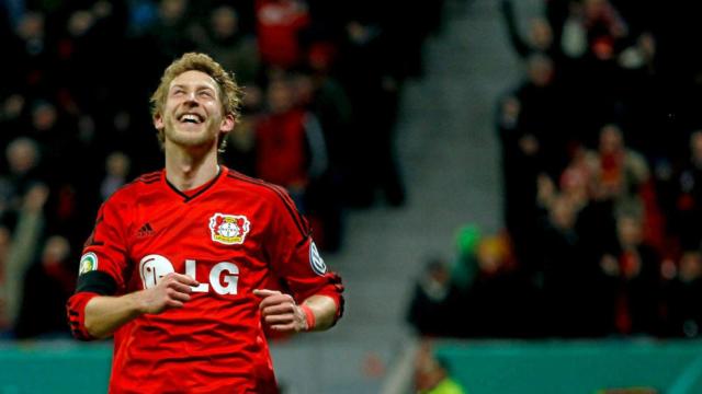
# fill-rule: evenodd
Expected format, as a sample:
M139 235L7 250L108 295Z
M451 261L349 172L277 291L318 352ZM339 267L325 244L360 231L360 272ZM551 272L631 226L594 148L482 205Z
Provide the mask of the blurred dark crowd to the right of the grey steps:
M697 2L499 8L523 80L500 100L503 233L430 258L430 336L699 337L702 44ZM427 317L430 316L430 317Z

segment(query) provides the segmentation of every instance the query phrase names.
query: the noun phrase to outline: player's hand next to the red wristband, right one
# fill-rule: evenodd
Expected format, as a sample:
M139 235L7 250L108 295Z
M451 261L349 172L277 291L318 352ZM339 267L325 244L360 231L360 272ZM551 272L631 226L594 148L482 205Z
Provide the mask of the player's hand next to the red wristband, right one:
M271 329L283 333L308 329L305 312L292 296L268 289L253 290L253 294L261 299L259 310Z

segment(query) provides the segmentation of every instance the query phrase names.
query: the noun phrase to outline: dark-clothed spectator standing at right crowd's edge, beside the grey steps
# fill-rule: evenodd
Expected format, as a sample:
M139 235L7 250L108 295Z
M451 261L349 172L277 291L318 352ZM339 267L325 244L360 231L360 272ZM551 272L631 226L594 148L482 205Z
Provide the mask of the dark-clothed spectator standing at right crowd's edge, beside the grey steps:
M567 123L564 102L554 81L553 61L532 55L528 78L501 103L498 130L502 143L505 221L520 256L533 260L537 228L536 178L556 177L565 158Z

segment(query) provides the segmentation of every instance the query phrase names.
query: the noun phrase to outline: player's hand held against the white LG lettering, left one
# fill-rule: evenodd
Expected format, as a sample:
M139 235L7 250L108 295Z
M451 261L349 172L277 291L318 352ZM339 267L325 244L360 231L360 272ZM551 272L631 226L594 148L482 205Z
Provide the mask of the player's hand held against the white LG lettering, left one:
M200 283L185 275L171 273L161 278L156 287L141 292L143 313L161 313L173 308L183 308L190 301L192 287Z

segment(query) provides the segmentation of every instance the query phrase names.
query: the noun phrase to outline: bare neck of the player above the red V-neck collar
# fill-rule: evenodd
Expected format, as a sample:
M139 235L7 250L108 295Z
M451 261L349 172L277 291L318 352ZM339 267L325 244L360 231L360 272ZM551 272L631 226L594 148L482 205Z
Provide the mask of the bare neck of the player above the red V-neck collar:
M166 178L181 192L200 187L219 172L217 151L193 152L166 142Z

